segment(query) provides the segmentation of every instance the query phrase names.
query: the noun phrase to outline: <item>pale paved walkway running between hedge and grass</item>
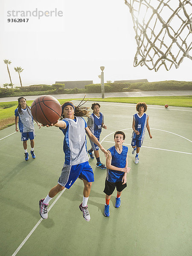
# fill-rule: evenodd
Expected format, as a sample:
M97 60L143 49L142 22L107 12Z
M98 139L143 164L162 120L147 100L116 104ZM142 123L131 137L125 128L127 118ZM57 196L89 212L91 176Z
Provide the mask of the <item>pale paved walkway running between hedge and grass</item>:
M105 98L110 97L143 97L143 96L186 96L192 95L192 90L183 90L183 91L148 91L148 92L122 92L122 93L105 93ZM54 94L52 95L56 99L76 99L83 98L84 93L78 94ZM24 96L27 100L34 100L38 98L35 96ZM86 99L89 98L101 98L101 93L87 93ZM0 102L11 102L17 101L18 97L7 97L0 98Z

